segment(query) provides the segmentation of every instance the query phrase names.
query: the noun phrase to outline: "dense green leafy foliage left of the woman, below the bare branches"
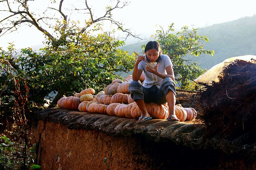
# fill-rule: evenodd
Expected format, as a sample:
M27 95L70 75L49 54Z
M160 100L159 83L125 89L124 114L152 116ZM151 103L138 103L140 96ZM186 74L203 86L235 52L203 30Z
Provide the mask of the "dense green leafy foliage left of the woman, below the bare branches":
M64 94L70 96L85 86L101 91L112 79L120 78L117 72L128 72L133 68L135 58L118 48L124 45L123 41L116 40L108 32L93 34L102 30L100 25L89 32L80 33L77 32L80 28L73 22L66 26L66 31L61 32L65 24L63 22L56 26L56 32L65 37L58 41L57 48L49 40L49 46L40 52L28 48L22 49L20 55L13 56L12 45L9 51L2 50L1 60L10 62L12 72L21 77L23 84L26 83L24 87L29 89L26 92L30 107L42 105L51 92L59 92L60 97ZM3 65L1 83L9 96L2 95L1 98L11 104L15 89L5 68L7 66Z

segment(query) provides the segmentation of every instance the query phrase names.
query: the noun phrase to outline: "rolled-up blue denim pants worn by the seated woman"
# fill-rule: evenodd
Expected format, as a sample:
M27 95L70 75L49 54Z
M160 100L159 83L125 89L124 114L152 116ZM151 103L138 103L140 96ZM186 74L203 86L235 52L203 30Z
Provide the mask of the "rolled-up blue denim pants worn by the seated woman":
M139 82L132 81L129 85L129 92L134 101L142 99L145 103L154 102L161 105L167 102L165 96L169 90L176 95L176 85L170 77L165 77L160 86L159 89L156 85L145 88Z

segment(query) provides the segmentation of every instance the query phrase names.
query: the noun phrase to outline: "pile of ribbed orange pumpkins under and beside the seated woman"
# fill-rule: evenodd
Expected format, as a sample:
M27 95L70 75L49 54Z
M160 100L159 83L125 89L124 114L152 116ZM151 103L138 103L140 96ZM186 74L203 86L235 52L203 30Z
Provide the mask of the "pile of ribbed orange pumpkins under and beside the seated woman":
M143 83L144 80L145 75L142 74L140 82ZM100 91L96 95L94 95L93 88L86 88L74 96L62 97L58 101L58 106L80 112L138 119L141 116L141 111L128 91L131 81L132 75L128 75L124 80L113 80L104 91ZM158 105L153 102L145 104L152 119L167 119L169 117L167 104ZM175 113L180 121L193 120L197 115L195 109L183 108L181 105L175 106Z

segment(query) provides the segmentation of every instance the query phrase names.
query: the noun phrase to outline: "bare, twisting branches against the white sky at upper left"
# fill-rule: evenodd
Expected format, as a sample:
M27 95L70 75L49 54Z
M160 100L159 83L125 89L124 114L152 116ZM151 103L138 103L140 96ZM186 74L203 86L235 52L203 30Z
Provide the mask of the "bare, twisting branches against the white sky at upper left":
M33 1L28 3L29 1ZM124 28L123 24L117 20L115 20L112 16L112 11L119 8L123 8L128 5L128 2L121 2L120 0L116 1L115 6L107 6L106 12L103 16L94 18L92 13L92 8L89 7L88 1L83 0L85 8L80 7L79 9L75 7L72 9L70 6L68 7L69 10L72 11L80 11L85 10L84 14L89 14L90 18L86 20L86 24L80 29L80 33L84 33L85 30L92 26L94 23L98 23L101 21L108 21L111 24L115 25L118 29L125 33L126 38L128 36L133 36L135 38L139 38L138 35L134 35L131 31L127 28ZM33 9L30 7L31 3L36 3L35 0L0 0L3 4L0 6L0 11L4 12L4 15L0 16L0 28L2 31L0 32L0 36L6 33L12 32L20 28L23 24L29 24L29 26L36 27L39 31L44 33L52 42L58 41L61 39L65 39L65 35L61 34L61 36L53 35L53 31L51 28L53 24L57 24L58 22L64 20L62 27L62 32L66 31L68 26L68 16L71 16L71 13L64 14L63 6L64 0L59 0L59 3L52 3L50 7L44 12L38 12L38 9ZM57 5L57 6L56 6ZM41 9L40 9L41 10ZM59 14L59 15L58 15ZM72 20L72 18L70 18Z

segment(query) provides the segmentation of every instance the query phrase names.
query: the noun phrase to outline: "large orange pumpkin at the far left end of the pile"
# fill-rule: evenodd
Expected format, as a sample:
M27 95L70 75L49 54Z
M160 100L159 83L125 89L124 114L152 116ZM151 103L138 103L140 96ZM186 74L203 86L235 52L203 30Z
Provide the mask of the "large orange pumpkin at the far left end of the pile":
M58 100L57 104L60 108L65 108L68 110L78 110L80 100L79 100L79 97L73 97L73 96L62 97Z

